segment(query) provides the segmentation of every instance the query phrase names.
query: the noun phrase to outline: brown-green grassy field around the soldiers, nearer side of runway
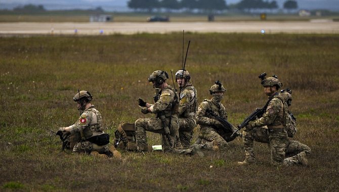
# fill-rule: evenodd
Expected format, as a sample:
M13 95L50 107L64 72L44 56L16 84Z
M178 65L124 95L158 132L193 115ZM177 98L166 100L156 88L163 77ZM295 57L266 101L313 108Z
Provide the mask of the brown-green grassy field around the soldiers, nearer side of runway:
M298 121L293 138L312 149L309 166L276 168L267 144L257 164L244 159L240 138L204 158L160 151L121 151L122 160L71 155L51 131L78 117L72 97L90 91L106 132L152 117L154 70L182 66L182 33L0 37L0 187L2 191L337 191L339 165L339 36L335 34L185 34L186 69L199 101L220 80L229 122L239 125L267 97L258 75L276 74L292 90ZM186 49L185 49L186 50ZM168 82L173 85L172 81ZM176 86L177 87L177 86ZM160 136L148 132L149 144Z

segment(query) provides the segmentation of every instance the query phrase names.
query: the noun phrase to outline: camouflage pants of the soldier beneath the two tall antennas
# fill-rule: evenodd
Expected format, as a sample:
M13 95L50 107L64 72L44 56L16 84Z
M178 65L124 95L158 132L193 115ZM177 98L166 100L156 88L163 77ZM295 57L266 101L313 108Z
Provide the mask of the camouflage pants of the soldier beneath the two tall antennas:
M181 143L184 148L188 148L191 145L195 126L196 120L194 116L179 118L179 139L177 138L177 145Z

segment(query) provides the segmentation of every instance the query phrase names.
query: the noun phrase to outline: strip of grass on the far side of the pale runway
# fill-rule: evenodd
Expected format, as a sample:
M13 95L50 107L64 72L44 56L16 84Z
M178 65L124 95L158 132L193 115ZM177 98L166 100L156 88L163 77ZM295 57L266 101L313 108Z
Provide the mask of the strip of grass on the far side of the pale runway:
M300 17L297 13L267 13L267 21L309 21L310 19L333 19L339 20L339 13L323 11L321 17L312 13L310 17ZM113 22L146 22L146 19L153 15L168 16L170 22L202 22L208 21L208 14L189 13L120 13L106 12L97 13L94 11L46 11L46 12L16 12L0 10L0 22L89 22L91 15L111 15ZM227 12L216 14L216 22L223 21L260 21L260 13Z

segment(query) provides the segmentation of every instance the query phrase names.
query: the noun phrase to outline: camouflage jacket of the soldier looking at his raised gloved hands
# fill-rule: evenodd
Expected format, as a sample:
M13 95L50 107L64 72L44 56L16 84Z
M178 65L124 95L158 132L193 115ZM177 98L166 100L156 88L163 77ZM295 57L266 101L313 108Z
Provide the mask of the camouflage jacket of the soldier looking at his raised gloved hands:
M164 87L159 94L160 97L158 101L150 106L151 112L156 113L157 117L159 117L161 113L164 113L166 118L171 117L171 115L172 117L178 117L177 116L178 111L174 111L178 110L174 109L175 107L174 105L176 104L174 102L176 99L179 98L176 91L171 86L168 85Z

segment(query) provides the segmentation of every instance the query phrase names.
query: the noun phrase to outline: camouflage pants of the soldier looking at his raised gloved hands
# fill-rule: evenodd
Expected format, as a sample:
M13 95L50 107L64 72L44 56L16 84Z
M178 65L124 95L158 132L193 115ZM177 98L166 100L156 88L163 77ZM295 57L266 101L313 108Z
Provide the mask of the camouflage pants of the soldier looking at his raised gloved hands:
M170 122L169 119L166 118L166 125ZM146 131L160 133L161 134L161 142L162 142L162 150L172 150L176 145L176 135L179 130L178 119L172 117L170 128L170 138L172 141L172 145L168 141L168 138L164 134L164 130L162 127L162 122L158 118L140 118L135 122L136 129L136 141L138 150L148 150L147 144L147 135Z

